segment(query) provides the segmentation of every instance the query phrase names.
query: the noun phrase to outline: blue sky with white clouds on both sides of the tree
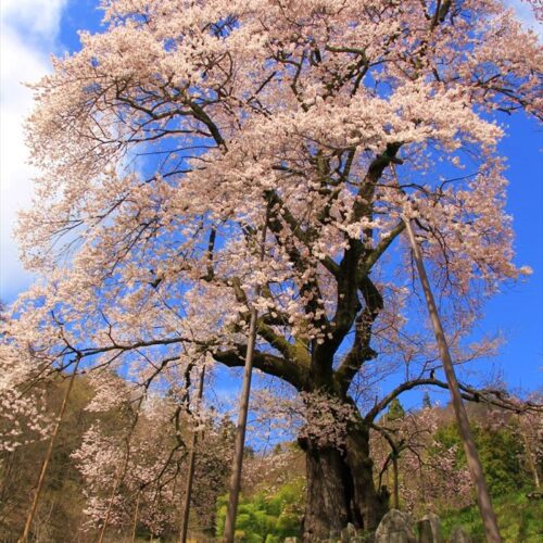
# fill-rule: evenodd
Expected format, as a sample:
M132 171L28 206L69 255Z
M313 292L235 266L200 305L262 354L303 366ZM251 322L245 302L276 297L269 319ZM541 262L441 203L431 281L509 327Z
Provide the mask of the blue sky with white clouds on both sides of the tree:
M527 4L508 3L527 24L534 24ZM13 301L31 281L18 263L11 237L15 211L28 205L35 175L25 164L21 129L31 98L21 81L46 74L51 52L77 50L78 29L98 30L101 12L97 5L97 0L2 0L0 300L4 302ZM509 387L532 390L541 387L543 369L543 132L522 116L504 122L509 128L501 151L509 163L508 211L517 232L516 263L531 266L534 273L528 280L505 286L489 302L478 328L501 330L508 340L490 362L494 371L502 372Z

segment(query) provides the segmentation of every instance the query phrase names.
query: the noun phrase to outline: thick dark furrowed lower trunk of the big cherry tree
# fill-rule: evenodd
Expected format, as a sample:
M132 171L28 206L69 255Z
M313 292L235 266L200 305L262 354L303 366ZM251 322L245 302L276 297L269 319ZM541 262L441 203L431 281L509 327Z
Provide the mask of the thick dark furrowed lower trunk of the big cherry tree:
M365 427L352 425L341 450L300 442L306 453L307 475L303 541L337 536L349 522L376 529L388 504L376 492Z

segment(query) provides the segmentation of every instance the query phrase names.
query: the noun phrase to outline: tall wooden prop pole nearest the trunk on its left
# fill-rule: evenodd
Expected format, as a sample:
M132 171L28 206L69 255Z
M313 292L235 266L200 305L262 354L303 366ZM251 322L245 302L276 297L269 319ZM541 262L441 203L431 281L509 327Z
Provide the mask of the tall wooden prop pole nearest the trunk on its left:
M269 207L266 210L266 219L262 228L260 261L264 260L266 231L268 226ZM261 293L260 285L255 288L255 295ZM254 345L256 343L256 319L258 313L256 307L251 308L251 321L249 325L249 339L247 344L245 365L243 368L243 387L241 390L238 426L236 428L236 450L233 453L232 475L230 479L230 491L228 496L228 510L226 514L225 535L223 541L233 543L236 532L236 515L238 513L239 489L241 481L241 468L243 466L243 449L245 445L247 416L249 413L249 395L251 392L251 377L253 370Z

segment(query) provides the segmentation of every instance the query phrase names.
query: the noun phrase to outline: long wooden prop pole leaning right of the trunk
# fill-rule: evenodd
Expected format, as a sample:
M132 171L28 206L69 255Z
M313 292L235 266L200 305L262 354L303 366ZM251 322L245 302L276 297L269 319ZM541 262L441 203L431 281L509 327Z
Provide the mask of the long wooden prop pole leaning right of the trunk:
M481 514L482 522L484 526L487 541L489 543L501 543L502 536L500 535L500 530L497 528L496 516L494 514L492 502L490 500L487 481L484 479L479 454L477 453L473 435L471 433L471 429L469 428L468 415L462 401L460 389L456 379L456 374L454 371L451 352L449 351L449 345L446 343L445 333L441 325L438 306L435 305L435 300L433 299L430 281L428 280L428 275L426 274L425 264L422 262L422 254L415 237L411 219L404 217L404 223L405 230L407 231L407 237L409 238L409 243L413 250L413 256L417 265L417 270L420 278L420 283L422 286L422 291L425 293L426 303L428 305L428 313L430 314L430 320L432 323L433 332L435 334L435 341L438 342L438 349L441 361L443 363L443 369L445 371L446 381L449 383L449 390L451 391L454 414L456 416L458 431L464 443L464 451L466 452L466 458L468 462L471 480L476 488L477 503L479 505L479 512Z

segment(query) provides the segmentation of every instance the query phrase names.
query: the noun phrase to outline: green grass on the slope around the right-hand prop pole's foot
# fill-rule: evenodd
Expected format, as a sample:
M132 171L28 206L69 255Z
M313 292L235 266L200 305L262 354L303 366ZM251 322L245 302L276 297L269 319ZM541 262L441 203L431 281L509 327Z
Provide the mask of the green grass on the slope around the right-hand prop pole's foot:
M543 500L528 500L525 490L493 500L504 542L541 543L543 541ZM473 543L483 543L484 533L476 505L441 515L443 534L450 536L454 527L462 526Z

